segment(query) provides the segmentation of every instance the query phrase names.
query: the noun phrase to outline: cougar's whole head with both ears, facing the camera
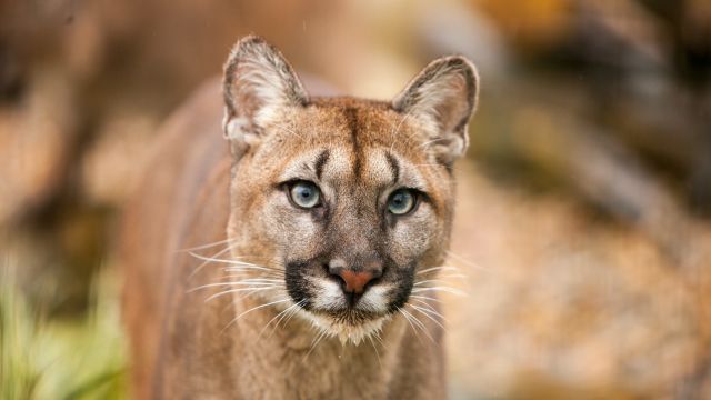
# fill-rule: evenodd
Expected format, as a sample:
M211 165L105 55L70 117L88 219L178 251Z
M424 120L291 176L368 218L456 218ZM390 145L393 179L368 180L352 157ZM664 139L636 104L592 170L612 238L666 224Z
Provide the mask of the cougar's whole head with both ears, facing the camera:
M392 102L314 100L278 52L248 38L228 60L224 92L228 234L239 272L263 288L250 294L358 342L443 262L471 64L440 59Z

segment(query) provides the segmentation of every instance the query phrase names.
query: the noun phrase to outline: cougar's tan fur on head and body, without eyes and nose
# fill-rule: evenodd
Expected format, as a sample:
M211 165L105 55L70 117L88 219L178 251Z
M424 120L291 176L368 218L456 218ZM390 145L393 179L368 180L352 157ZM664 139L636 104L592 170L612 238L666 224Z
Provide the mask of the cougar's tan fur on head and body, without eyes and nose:
M409 296L413 281L435 279L435 271L418 272L443 262L451 162L465 149L475 84L473 67L449 58L428 67L393 103L310 99L278 51L254 37L240 41L226 66L224 102L217 83L208 83L167 122L127 211L124 317L136 397L445 397L439 317L418 313L411 304L424 306L411 298L384 307L395 303L398 290ZM317 173L319 158L326 161ZM290 203L282 183L294 178L318 182L322 209ZM427 199L395 219L382 204L400 187ZM200 259L180 251L226 238L229 243L196 250L220 259L199 269ZM342 301L327 290L336 283L323 266L333 260L356 270L385 264L357 303L362 309L329 309ZM239 279L277 283L206 302L240 288L193 290L234 280L226 266L244 269ZM308 306L293 306L302 292ZM425 304L437 311L435 302ZM296 312L276 321L290 307Z

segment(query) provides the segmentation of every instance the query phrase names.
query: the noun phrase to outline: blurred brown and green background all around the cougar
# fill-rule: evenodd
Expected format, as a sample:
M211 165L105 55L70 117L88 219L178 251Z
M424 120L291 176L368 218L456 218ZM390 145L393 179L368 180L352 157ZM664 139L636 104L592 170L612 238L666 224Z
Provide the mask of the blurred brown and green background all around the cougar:
M711 399L708 0L0 0L0 398L127 396L121 204L250 32L375 99L477 63L453 399Z

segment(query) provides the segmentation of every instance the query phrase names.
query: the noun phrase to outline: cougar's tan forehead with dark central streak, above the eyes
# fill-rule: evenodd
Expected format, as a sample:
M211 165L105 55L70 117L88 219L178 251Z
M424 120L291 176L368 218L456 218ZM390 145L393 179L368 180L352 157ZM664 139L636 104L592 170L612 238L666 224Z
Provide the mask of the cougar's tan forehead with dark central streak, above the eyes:
M382 183L408 178L423 186L412 166L427 164L418 131L388 103L360 99L317 100L274 121L263 156L279 154L282 174L314 174ZM317 173L318 172L318 173Z

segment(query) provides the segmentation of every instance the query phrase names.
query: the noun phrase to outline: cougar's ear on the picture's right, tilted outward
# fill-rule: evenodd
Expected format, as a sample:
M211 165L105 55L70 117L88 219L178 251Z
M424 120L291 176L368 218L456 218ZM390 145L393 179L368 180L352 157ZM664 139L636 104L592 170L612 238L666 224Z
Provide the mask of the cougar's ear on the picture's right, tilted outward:
M469 144L467 124L477 106L479 78L461 56L432 61L392 101L392 107L424 127L428 148L439 162L451 164Z

